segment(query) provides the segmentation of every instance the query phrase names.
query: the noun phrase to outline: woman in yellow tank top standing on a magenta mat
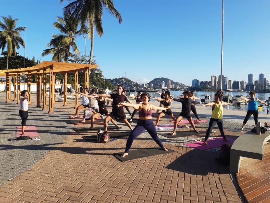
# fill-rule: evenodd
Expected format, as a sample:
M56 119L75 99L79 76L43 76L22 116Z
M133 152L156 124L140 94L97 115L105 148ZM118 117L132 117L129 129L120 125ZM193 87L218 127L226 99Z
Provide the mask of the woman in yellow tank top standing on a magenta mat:
M230 103L221 101L221 94L216 93L215 94L215 102L210 102L210 103L204 105L204 106L212 106L212 108L214 108L214 109L212 111L212 116L211 116L211 119L209 121L209 126L207 129L206 135L205 135L203 145L206 145L206 141L210 136L210 132L213 130L213 128L216 124L218 125L218 129L220 130L220 133L223 137L223 140L228 141L225 137L225 133L223 130L223 120L222 120L223 106L222 105L229 105L229 104Z

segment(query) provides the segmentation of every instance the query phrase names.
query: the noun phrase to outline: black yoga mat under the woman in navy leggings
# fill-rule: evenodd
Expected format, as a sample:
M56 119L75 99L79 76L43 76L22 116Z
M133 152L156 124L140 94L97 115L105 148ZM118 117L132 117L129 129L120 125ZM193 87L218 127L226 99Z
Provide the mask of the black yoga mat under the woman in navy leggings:
M135 149L129 151L129 155L125 156L124 158L121 157L121 154L113 154L117 159L120 161L128 161L132 159L138 159L143 158L147 156L154 156L154 155L160 155L160 154L168 154L174 152L171 149L168 149L167 152L165 152L163 149L157 148L141 148L141 149Z

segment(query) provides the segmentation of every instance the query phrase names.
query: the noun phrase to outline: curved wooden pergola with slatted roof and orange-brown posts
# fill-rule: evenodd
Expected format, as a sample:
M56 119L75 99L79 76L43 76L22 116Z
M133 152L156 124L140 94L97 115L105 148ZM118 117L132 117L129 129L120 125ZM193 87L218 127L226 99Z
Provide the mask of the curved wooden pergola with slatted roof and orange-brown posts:
M67 79L70 72L75 73L75 90L78 90L78 71L85 71L85 86L88 87L89 78L88 71L90 68L96 68L97 65L90 64L77 64L77 63L62 63L53 61L42 61L40 64L27 68L16 68L10 70L0 70L0 76L6 76L6 103L11 100L11 77L14 77L14 101L17 100L17 104L20 103L20 83L21 74L27 75L27 90L29 93L28 103L31 105L31 75L37 76L36 83L36 107L41 107L42 103L42 93L43 93L43 109L47 110L46 101L46 85L47 85L47 75L49 75L49 113L53 112L53 103L55 103L55 74L64 74L64 103L63 106L67 106ZM42 78L43 76L43 78ZM43 85L43 92L42 92ZM78 106L78 96L75 96L74 109Z

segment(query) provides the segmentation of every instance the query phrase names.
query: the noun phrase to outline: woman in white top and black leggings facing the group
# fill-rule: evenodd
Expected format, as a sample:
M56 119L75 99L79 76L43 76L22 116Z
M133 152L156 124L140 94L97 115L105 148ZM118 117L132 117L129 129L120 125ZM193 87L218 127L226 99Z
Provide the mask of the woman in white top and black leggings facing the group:
M21 109L19 110L20 117L22 119L22 136L25 136L25 126L26 126L26 120L28 118L28 91L23 90L21 93L21 100L20 105Z

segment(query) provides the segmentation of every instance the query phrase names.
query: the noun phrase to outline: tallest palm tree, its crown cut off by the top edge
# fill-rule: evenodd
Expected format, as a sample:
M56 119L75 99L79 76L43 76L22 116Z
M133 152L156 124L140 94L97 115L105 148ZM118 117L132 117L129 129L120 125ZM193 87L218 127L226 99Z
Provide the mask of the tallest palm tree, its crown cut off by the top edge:
M60 0L61 3L63 1L65 0ZM63 8L64 14L71 14L75 19L79 19L82 25L85 25L87 23L87 27L89 30L88 36L89 38L91 38L89 64L92 64L95 28L97 35L103 35L103 7L106 8L114 17L116 17L119 23L122 23L122 17L120 13L116 10L116 8L114 8L113 0L76 0Z

